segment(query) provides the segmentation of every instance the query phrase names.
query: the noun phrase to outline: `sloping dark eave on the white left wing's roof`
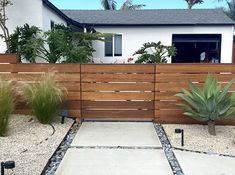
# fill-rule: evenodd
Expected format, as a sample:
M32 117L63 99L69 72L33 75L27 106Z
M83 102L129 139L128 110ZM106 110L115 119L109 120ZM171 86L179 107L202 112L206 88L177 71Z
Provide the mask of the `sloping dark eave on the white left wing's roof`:
M49 7L51 10L53 10L57 15L59 15L61 18L63 18L68 24L72 24L76 27L79 28L84 28L86 26L84 26L83 24L72 20L71 18L69 18L68 16L66 16L63 12L61 12L56 6L54 6L51 2L49 2L48 0L43 0L43 4L45 4L47 7Z

